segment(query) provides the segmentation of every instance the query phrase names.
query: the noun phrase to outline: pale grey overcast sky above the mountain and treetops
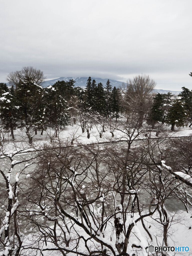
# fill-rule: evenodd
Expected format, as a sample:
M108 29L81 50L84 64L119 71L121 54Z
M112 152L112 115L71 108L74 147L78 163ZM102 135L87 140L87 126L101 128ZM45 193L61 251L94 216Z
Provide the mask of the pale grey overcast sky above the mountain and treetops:
M192 89L191 0L1 0L0 82L23 66Z

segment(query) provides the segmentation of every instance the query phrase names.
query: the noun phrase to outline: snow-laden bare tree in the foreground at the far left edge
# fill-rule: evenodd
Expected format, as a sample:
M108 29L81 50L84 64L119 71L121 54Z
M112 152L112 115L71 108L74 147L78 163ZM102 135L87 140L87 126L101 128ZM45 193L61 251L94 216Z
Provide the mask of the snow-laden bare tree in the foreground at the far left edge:
M23 149L25 147L25 150ZM9 151L7 149L9 148ZM13 143L0 145L0 248L3 256L19 256L25 238L21 225L20 205L22 193L19 192L20 178L25 175L27 166L31 165L36 155L22 157L27 146ZM10 153L12 152L12 153ZM27 164L26 164L27 163ZM15 173L15 169L18 171ZM14 177L15 175L15 177ZM26 187L26 185L25 185Z

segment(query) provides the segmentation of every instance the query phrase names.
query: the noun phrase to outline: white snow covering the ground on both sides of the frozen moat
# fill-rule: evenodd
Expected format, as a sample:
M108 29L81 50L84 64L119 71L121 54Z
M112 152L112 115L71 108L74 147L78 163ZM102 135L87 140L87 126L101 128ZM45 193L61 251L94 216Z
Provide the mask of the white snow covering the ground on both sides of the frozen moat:
M41 148L42 146L52 145L51 143L53 141L57 142L59 140L61 141L68 140L70 143L71 141L73 141L73 143L71 143L71 146L78 147L80 145L88 145L92 143L94 144L106 143L106 142L121 143L121 141L126 141L128 139L127 135L121 130L114 130L114 137L112 137L109 126L105 127L105 132L102 133L102 138L100 138L98 129L101 130L102 127L99 127L99 126L96 127L95 125L93 125L92 129L90 130L90 138L87 138L87 132L82 133L79 123L77 124L70 123L65 128L59 130L58 137L56 138L53 136L55 134L55 129L48 128L47 131L44 131L43 135L40 135L40 131L38 131L37 135L34 134L33 144L31 146L28 144L28 138L25 135L26 134L25 131L18 129L15 131L15 140L10 139L10 136L8 136L8 134L5 135L4 156L5 155L13 156L16 152L19 152L19 154L16 154L16 156L13 157L14 160L12 161L12 163L10 163L9 159L7 158L5 159L5 157L2 155L0 159L0 168L3 171L6 171L7 165L10 165L10 164L15 165L12 170L12 173L9 175L9 178L11 180L14 179L16 181L19 181L18 172L20 172L22 168L25 168L24 175L20 177L21 177L21 180L26 179L26 186L27 186L27 180L28 178L30 178L31 175L33 175L33 171L36 168L36 165L33 164L33 161L31 161L31 156L33 156L32 152L38 148ZM185 127L184 129L180 129L175 132L169 132L169 136L171 137L191 136L191 132L192 132L192 129ZM135 143L136 143L135 146L137 146L137 143L138 144L140 143L140 140L143 140L143 139L147 140L149 136L151 136L151 138L154 138L154 139L157 138L156 132L152 132L152 133L150 132L150 134L148 133L147 136L146 134L145 135L141 134L137 136L135 140ZM163 135L159 135L159 136L163 136ZM6 144L6 142L8 142L8 144ZM30 153L30 151L32 152ZM18 164L19 159L21 158L25 159L26 162L22 164ZM165 164L162 163L162 165L165 165ZM166 165L165 167L168 168ZM188 177L187 175L184 175L182 172L181 173L177 172L176 174L184 179L187 179L189 182L191 182L191 177L189 175ZM82 189L84 189L84 187L82 187ZM100 212L98 209L97 211L99 215ZM192 212L189 211L187 213L186 211L181 211L179 207L177 208L177 206L175 205L175 210L172 210L172 211L168 210L168 214L169 214L169 218L172 219L172 225L169 227L169 230L168 230L168 234L169 234L168 246L177 246L177 247L188 246L190 248L189 252L177 252L176 254L169 252L168 255L186 255L186 256L191 255L192 254L192 242L191 242ZM136 217L138 216L135 216L135 218ZM158 224L157 221L155 221L156 218L158 217L154 214L152 218L151 217L145 218L144 223L147 229L152 234L152 238L153 238L152 244L154 246L161 246L163 233L162 233L162 228L160 228L160 224ZM134 219L127 218L126 227L128 227L131 222L134 222ZM31 244L31 240L33 241L33 239L34 239L34 244L36 244L35 239L37 234L35 233L34 230L30 230L30 231L31 232L28 233L28 230L26 230L26 233L28 233L28 235L25 236L23 241L23 244L25 244L26 246L29 243L29 241ZM78 234L82 235L84 238L87 238L87 239L89 238L89 236L79 226L74 225L74 227L71 230L71 236L73 238L76 238L77 236L76 232L78 232ZM116 241L116 234L115 234L114 226L111 224L106 227L105 238L103 238L103 242L110 244L114 248L114 250L116 250L115 241ZM95 247L95 248L98 248L98 250L101 249L101 245L95 242L93 239L90 239L88 244L90 248ZM130 255L138 255L138 256L153 255L148 253L148 249L144 250L140 248L138 249L132 248L131 247L132 244L135 244L136 246L141 246L143 248L151 244L150 238L146 236L146 233L142 227L141 221L138 221L132 230L127 253L129 253ZM45 243L42 243L42 242L39 244L39 247L42 250L44 250L43 252L41 251L43 255L61 255L61 253L59 253L58 251L56 252L56 251L45 250L45 249L52 248L52 246L53 244L49 242L47 243L47 245L45 245ZM79 243L78 251L82 253L85 252L84 243L82 242ZM29 253L27 255L34 255L33 249L29 249L27 253ZM0 253L0 255L3 255L3 252ZM40 251L37 252L37 255L40 255ZM69 253L68 255L72 256L74 254Z

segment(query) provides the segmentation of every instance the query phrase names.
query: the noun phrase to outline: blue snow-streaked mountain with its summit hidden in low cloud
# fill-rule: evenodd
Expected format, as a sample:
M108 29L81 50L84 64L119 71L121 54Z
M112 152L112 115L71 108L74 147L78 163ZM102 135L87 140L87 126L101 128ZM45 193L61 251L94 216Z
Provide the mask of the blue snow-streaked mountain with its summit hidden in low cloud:
M69 81L70 79L73 79L76 82L75 87L77 87L77 86L85 87L87 85L88 77L60 77L60 78L57 78L57 79L45 81L42 84L42 87L47 87L49 85L54 84L57 81ZM94 77L92 77L91 79L92 80L94 79L97 84L102 83L103 86L106 85L106 82L108 80L108 78L102 79L102 78L94 78ZM114 87L114 86L119 87L119 85L122 84L122 82L120 82L120 81L116 81L116 80L112 80L112 79L109 79L109 80L110 80L110 83L111 83L112 87Z

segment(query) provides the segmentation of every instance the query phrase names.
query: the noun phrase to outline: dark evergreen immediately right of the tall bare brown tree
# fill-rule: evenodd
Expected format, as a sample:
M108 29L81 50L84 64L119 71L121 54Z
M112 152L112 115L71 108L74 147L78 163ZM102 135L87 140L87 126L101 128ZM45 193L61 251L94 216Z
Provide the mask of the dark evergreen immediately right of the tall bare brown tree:
M148 117L148 120L152 124L152 127L154 127L156 122L163 122L163 117L164 117L163 104L164 104L164 95L157 93L154 97L153 106Z

